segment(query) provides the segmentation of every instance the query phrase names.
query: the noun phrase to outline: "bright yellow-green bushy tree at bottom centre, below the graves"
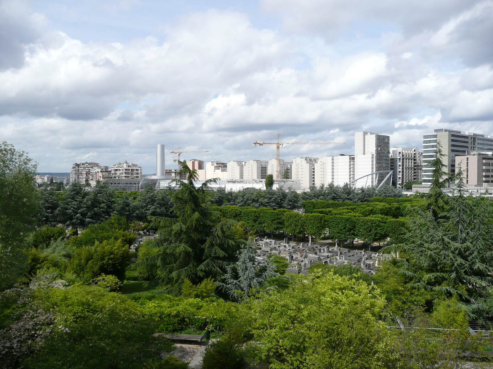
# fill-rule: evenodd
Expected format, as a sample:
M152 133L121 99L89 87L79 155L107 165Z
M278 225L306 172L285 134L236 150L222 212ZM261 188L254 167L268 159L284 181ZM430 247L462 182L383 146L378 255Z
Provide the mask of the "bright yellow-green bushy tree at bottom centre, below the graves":
M384 305L361 280L315 274L247 300L226 332L270 368L394 368L392 337L374 317Z

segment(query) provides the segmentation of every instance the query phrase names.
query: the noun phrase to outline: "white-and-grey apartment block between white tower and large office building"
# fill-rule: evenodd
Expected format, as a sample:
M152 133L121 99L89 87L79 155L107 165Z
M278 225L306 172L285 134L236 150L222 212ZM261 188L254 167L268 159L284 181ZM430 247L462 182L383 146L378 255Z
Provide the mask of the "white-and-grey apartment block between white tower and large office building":
M393 147L390 149L390 170L393 184L404 188L408 182L423 180L423 153L418 148Z

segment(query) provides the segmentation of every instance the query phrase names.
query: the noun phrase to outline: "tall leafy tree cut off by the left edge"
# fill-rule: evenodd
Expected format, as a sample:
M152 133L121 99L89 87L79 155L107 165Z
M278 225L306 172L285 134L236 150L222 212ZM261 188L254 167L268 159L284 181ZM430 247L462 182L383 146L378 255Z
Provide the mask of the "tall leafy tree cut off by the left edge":
M39 209L35 173L36 163L24 151L0 142L0 290L25 270L24 239Z

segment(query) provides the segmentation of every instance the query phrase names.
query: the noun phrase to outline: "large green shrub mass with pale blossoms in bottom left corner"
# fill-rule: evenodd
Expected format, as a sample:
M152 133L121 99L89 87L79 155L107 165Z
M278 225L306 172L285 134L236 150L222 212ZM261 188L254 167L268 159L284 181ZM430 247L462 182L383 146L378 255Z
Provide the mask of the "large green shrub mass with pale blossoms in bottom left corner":
M96 285L66 288L49 277L2 296L9 304L0 329L2 368L142 368L172 350L152 336L159 322L122 294Z

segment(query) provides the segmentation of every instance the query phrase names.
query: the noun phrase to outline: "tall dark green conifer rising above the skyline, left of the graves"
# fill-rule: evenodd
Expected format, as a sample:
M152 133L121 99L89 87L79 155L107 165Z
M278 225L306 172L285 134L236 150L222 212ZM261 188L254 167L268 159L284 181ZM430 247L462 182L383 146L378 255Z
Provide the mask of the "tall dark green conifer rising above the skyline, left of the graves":
M198 172L183 160L180 174L187 181L177 180L179 189L172 193L176 218L154 217L153 224L160 236L155 245L159 253L137 261L134 268L155 270L156 279L171 294L179 294L185 278L193 284L212 277L222 277L229 262L243 241L234 237L234 220L220 220L220 214L211 209L205 181L196 188Z

